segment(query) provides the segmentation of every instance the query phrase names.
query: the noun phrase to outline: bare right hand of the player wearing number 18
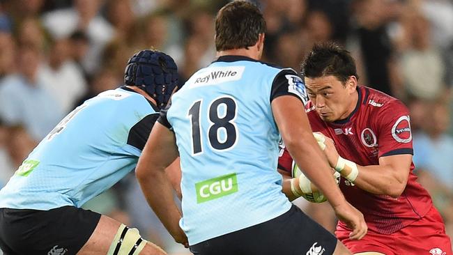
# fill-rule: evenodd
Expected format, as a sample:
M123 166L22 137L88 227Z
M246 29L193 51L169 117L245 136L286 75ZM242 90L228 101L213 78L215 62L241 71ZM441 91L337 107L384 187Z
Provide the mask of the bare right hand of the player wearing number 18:
M349 238L360 240L368 231L367 223L365 222L362 212L351 206L345 201L339 206L334 206L335 214L341 222L344 222L353 231L349 234Z

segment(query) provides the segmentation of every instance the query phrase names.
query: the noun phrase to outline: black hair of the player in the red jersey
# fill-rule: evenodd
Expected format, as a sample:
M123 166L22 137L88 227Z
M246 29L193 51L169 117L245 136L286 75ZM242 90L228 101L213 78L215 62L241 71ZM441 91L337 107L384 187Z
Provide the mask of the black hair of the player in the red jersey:
M352 75L359 79L351 53L335 42L315 44L302 61L300 71L310 78L333 75L342 83Z

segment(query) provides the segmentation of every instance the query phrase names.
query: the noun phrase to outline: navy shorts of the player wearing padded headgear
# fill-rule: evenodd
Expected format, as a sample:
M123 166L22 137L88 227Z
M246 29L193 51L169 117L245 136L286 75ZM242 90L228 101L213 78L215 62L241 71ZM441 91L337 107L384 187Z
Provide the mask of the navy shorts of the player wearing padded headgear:
M5 255L77 254L100 216L74 206L52 210L0 208L0 248Z

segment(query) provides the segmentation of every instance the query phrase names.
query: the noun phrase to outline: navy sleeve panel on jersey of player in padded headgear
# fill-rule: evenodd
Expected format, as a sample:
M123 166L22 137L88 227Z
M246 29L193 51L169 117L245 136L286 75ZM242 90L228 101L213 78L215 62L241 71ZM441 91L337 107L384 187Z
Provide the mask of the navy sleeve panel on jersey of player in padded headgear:
M142 118L137 124L133 125L129 130L128 144L139 150L143 150L158 117L158 113L149 114Z

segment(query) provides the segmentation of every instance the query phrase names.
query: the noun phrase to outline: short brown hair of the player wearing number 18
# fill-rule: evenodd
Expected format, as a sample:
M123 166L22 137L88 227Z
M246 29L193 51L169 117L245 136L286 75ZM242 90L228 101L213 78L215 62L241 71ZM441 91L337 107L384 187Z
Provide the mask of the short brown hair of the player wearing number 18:
M248 49L266 31L263 14L253 3L233 1L215 17L215 49Z

